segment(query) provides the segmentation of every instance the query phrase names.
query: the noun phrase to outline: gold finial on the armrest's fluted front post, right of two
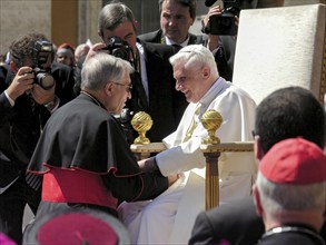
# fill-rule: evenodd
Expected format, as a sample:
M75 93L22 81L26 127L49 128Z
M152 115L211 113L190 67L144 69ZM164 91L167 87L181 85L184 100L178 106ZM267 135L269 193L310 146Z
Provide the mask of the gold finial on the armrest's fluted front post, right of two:
M220 140L215 136L216 130L220 127L223 122L223 117L219 112L214 109L207 110L200 119L204 128L208 131L208 137L204 139L204 144L214 145L219 144Z

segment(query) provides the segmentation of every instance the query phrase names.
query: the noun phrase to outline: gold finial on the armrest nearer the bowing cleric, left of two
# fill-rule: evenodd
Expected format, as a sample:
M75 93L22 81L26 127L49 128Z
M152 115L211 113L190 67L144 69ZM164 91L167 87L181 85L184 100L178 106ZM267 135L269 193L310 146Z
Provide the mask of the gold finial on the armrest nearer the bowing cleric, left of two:
M152 120L147 112L139 111L135 114L135 116L131 119L131 126L139 134L139 136L135 139L134 144L146 145L150 143L150 140L146 138L146 133L151 128Z

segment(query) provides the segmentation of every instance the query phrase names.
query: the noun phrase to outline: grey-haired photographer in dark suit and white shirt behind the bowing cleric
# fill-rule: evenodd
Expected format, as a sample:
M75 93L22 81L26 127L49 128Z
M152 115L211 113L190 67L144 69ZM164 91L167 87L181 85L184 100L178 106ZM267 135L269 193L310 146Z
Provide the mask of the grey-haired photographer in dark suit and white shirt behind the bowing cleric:
M147 137L151 141L161 141L176 130L187 101L185 96L175 89L172 67L168 60L176 50L169 46L138 40L137 24L127 6L109 3L99 14L99 36L106 43L110 38L118 37L130 46L130 59L136 72L131 76L134 88L126 108L134 114L140 110L148 112L154 125ZM135 138L136 135L132 137Z

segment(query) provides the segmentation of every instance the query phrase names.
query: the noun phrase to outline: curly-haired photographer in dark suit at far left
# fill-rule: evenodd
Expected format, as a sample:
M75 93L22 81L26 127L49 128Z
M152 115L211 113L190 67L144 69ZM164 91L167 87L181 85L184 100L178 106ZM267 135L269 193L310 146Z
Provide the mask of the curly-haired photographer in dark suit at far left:
M70 72L51 66L52 43L43 35L19 37L10 53L10 71L0 90L0 220L20 244L24 206L36 213L40 202L40 183L26 176L27 165L46 121L71 92L63 91Z

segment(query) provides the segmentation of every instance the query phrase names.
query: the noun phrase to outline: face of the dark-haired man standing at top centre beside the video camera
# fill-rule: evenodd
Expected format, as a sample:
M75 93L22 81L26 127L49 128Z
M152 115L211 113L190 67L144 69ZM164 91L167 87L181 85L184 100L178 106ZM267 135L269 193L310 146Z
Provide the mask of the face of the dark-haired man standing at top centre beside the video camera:
M194 19L190 17L189 7L184 7L171 0L162 2L160 27L169 39L176 43L184 42L192 23Z

